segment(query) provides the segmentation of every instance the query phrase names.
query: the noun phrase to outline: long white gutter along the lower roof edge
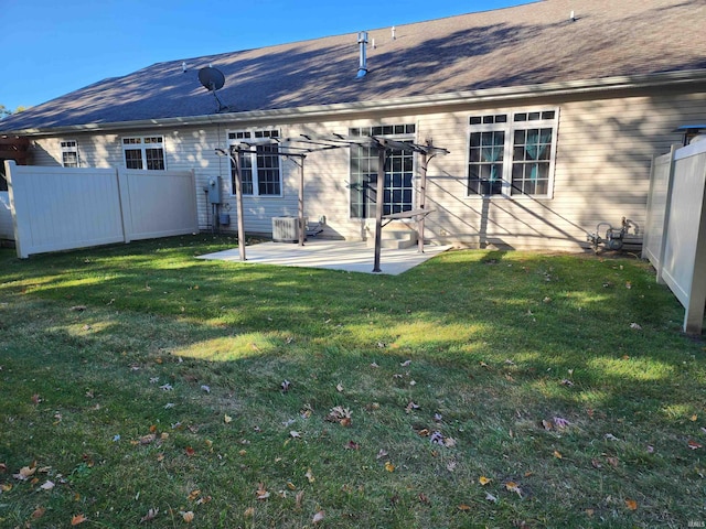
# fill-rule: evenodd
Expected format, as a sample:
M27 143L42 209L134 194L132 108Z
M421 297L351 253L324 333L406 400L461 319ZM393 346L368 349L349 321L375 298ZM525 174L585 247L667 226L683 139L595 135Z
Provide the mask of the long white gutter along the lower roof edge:
M600 79L570 80L563 83L545 83L504 88L453 91L428 96L409 96L394 99L343 102L333 105L311 105L306 107L282 108L274 110L252 110L244 112L211 114L204 116L185 116L179 118L159 118L136 121L116 121L109 123L86 123L66 127L23 129L0 131L8 136L55 136L69 132L101 132L127 129L174 128L215 123L239 122L281 122L284 120L353 116L370 111L403 111L435 106L458 106L479 102L495 102L518 98L538 98L547 96L565 96L614 91L640 88L659 88L706 83L705 69L667 72L662 74L631 75L605 77Z

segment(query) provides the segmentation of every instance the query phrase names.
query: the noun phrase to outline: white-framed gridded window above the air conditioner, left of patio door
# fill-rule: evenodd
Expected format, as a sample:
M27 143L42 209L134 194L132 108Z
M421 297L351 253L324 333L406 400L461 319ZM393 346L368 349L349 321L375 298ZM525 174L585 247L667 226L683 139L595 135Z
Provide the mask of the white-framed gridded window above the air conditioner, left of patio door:
M240 184L244 195L281 196L278 130L240 130L228 132L228 143L252 144L253 152L240 152ZM235 166L231 163L231 188L235 193Z

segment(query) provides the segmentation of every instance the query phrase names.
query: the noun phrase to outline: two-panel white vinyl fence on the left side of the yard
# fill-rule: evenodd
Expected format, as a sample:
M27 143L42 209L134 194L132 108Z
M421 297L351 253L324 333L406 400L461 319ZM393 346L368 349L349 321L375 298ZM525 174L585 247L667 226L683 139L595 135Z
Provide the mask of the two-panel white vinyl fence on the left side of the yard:
M199 231L193 171L42 168L8 161L6 174L21 258Z

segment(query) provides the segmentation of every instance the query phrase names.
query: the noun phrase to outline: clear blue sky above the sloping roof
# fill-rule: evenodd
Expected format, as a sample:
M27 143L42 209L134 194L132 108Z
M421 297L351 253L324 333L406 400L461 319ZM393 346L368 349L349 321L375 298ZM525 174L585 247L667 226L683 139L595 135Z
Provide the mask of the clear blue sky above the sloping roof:
M0 105L14 110L162 61L530 0L0 0Z

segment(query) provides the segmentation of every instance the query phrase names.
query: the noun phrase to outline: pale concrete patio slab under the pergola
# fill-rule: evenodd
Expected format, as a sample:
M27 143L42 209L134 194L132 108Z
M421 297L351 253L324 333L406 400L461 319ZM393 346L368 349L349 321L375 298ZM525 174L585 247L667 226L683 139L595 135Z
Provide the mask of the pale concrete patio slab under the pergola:
M396 250L381 250L381 270L383 274L397 276L421 264L451 246L425 246L424 253L417 247ZM365 242L345 240L314 239L304 246L290 242L260 242L245 248L246 263L279 264L282 267L325 268L347 272L374 273L375 252ZM199 256L197 259L239 261L237 248Z

